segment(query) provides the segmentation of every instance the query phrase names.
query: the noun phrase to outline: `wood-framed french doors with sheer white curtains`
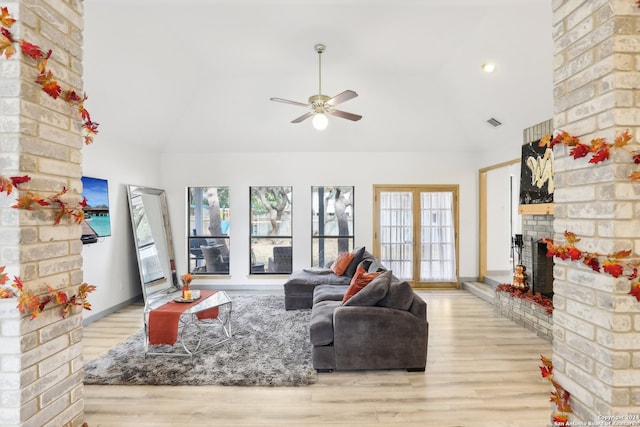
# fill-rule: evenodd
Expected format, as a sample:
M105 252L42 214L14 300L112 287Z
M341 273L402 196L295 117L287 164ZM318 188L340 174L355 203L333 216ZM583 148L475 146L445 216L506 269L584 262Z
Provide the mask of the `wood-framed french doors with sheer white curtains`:
M374 185L374 255L416 288L458 287L458 186Z

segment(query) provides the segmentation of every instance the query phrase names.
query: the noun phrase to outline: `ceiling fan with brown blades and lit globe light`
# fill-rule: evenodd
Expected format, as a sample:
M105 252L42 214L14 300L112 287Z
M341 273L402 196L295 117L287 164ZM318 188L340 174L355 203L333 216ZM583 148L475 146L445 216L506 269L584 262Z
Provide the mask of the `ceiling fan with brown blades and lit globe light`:
M318 94L310 96L309 102L307 104L305 104L304 102L289 101L288 99L282 98L271 98L271 100L276 102L284 102L285 104L299 105L301 107L311 108L311 111L303 114L297 119L293 119L291 123L300 123L303 120L306 120L309 117L313 116L313 127L318 130L323 130L327 127L327 114L331 114L332 116L341 117L347 120L352 120L354 122L360 120L362 116L358 114L347 113L346 111L340 111L333 108L338 104L341 104L358 96L356 92L352 90L345 90L344 92L339 93L333 98L322 94L322 53L325 51L326 46L323 44L317 44L314 46L314 48L316 52L318 52Z

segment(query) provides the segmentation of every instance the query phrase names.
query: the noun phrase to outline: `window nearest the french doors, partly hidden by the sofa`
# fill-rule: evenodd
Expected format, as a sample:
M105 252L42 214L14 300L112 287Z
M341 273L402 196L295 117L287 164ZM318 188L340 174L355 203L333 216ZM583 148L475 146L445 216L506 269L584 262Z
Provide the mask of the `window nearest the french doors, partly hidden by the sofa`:
M311 265L353 250L353 187L311 187Z

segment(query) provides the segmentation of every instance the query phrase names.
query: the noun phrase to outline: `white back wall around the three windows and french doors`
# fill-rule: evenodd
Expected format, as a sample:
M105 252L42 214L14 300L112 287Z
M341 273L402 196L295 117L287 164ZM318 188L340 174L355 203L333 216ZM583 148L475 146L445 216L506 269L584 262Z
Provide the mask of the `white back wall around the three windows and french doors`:
M356 246L372 248L373 184L460 185L460 275L477 276L477 176L473 156L464 153L219 153L167 154L162 185L176 246L178 275L186 272L186 188L228 186L231 204L229 278L198 284L282 284L285 276L249 276L249 187L293 186L293 269L310 265L311 186L355 186Z

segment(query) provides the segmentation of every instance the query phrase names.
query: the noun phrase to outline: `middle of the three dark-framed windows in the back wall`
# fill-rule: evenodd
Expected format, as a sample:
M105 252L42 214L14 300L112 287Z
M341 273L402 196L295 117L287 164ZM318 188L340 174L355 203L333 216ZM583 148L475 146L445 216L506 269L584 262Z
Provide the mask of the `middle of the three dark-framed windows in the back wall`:
M292 272L291 187L251 187L252 274Z

